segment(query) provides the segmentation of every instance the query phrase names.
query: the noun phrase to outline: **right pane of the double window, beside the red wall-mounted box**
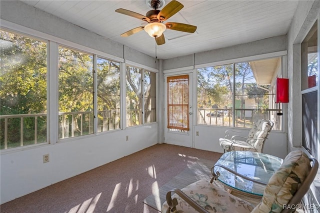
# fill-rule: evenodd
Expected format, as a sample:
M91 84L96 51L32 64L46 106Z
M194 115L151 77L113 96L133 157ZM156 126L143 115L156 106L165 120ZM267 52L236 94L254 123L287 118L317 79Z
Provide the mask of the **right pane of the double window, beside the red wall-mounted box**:
M270 119L269 115L272 112L269 107L271 80L266 79L263 75L273 74L273 71L276 71L270 68L277 64L278 59L274 58L274 62L265 59L235 64L235 126L251 127L252 122L257 119Z

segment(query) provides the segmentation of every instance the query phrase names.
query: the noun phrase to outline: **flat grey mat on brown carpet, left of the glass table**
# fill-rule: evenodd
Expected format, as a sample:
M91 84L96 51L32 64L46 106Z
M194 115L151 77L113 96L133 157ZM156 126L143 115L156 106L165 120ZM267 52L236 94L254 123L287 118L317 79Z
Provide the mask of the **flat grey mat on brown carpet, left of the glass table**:
M162 185L158 191L154 191L152 194L147 196L143 200L143 203L161 212L161 206L165 201L167 191L173 188L183 188L199 179L205 178L210 180L212 177L211 167L214 163L214 161L207 159L196 160L189 165L188 168L184 169L178 175Z

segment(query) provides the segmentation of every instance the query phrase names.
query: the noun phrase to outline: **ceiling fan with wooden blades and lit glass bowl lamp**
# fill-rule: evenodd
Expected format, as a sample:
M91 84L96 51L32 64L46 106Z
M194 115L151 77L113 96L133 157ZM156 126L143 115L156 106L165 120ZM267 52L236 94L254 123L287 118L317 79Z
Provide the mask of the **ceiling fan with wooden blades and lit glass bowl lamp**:
M116 9L116 12L129 15L140 20L148 22L144 26L138 26L133 29L130 29L121 34L121 36L126 37L132 35L136 32L139 32L144 29L151 37L155 38L155 41L158 45L165 43L165 38L163 35L163 31L165 29L173 29L183 32L193 33L196 30L196 26L186 24L186 23L178 23L178 22L166 22L169 17L177 13L180 9L182 9L183 4L176 0L171 0L168 4L166 4L161 10L158 10L163 4L164 0L147 0L148 5L153 8L146 12L145 15L139 14L137 12L133 12L127 9Z

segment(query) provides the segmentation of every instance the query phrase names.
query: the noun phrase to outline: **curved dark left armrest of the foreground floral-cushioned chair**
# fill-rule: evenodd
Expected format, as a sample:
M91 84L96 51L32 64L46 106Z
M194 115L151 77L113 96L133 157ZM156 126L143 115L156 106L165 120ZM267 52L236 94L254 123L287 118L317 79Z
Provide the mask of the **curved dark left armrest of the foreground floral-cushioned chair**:
M166 209L166 213L171 212L170 210L172 209L172 212L175 211L175 206L178 204L176 198L171 198L171 192L176 193L177 195L179 195L182 199L184 199L190 206L192 206L196 211L200 212L200 213L209 213L207 210L205 210L204 208L202 208L198 203L196 203L193 199L191 199L190 197L188 197L185 193L183 193L183 191L181 191L178 188L173 188L172 190L169 190L168 192L166 192L166 202L168 203L169 207L168 209Z

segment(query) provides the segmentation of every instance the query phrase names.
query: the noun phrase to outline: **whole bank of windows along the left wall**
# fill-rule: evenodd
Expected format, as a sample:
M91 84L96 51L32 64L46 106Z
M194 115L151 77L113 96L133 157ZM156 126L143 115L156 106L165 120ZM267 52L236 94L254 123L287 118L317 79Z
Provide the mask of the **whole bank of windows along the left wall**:
M121 129L122 116L126 126L156 121L155 72L126 66L124 106L121 62L62 44L49 49L47 42L0 30L0 149L47 142L49 132L55 133L47 130L48 120L58 126L58 139ZM56 91L47 91L49 50L58 52ZM58 98L55 119L47 117L48 92Z

